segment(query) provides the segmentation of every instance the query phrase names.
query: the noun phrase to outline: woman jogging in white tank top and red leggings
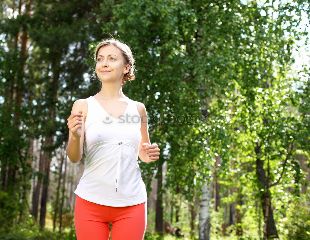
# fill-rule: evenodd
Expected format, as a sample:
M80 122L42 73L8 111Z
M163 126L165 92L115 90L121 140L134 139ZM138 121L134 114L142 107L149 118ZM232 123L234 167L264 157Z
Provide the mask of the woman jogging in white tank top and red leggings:
M131 49L116 39L104 39L95 49L95 73L101 91L74 102L68 118L67 155L82 158L86 167L77 186L74 220L78 240L140 240L147 225L147 193L138 157L159 159L157 144L148 135L143 103L122 92L135 78Z

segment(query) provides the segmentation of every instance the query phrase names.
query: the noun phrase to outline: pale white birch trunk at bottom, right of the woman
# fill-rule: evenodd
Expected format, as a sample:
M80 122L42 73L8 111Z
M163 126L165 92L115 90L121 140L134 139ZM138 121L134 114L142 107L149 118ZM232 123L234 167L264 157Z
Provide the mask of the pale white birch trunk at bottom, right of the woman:
M210 240L210 183L202 186L202 195L199 202L199 240Z

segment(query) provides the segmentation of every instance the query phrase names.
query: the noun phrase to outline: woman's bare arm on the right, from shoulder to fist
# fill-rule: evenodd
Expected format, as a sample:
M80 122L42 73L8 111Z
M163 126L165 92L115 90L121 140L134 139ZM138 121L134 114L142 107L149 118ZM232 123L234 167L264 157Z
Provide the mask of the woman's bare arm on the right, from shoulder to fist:
M157 144L151 144L148 134L148 114L143 103L137 102L137 108L141 118L141 143L139 147L139 158L142 162L155 162L159 159ZM144 151L145 150L145 151Z

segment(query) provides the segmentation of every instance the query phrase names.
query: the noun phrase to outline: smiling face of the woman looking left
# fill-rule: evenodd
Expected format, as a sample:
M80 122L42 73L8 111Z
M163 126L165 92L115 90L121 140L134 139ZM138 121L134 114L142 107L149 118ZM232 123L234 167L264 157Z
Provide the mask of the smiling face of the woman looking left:
M96 73L103 82L120 81L122 82L129 67L125 65L122 52L113 45L101 47L97 55Z

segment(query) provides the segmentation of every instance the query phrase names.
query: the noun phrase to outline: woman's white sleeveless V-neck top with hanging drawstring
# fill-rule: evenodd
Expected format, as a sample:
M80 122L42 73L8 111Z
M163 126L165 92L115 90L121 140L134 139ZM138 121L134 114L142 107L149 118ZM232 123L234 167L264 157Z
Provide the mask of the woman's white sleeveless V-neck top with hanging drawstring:
M125 113L119 119L110 116L93 96L86 101L86 166L74 193L87 201L112 207L146 202L146 188L137 161L141 118L135 101L127 98Z

